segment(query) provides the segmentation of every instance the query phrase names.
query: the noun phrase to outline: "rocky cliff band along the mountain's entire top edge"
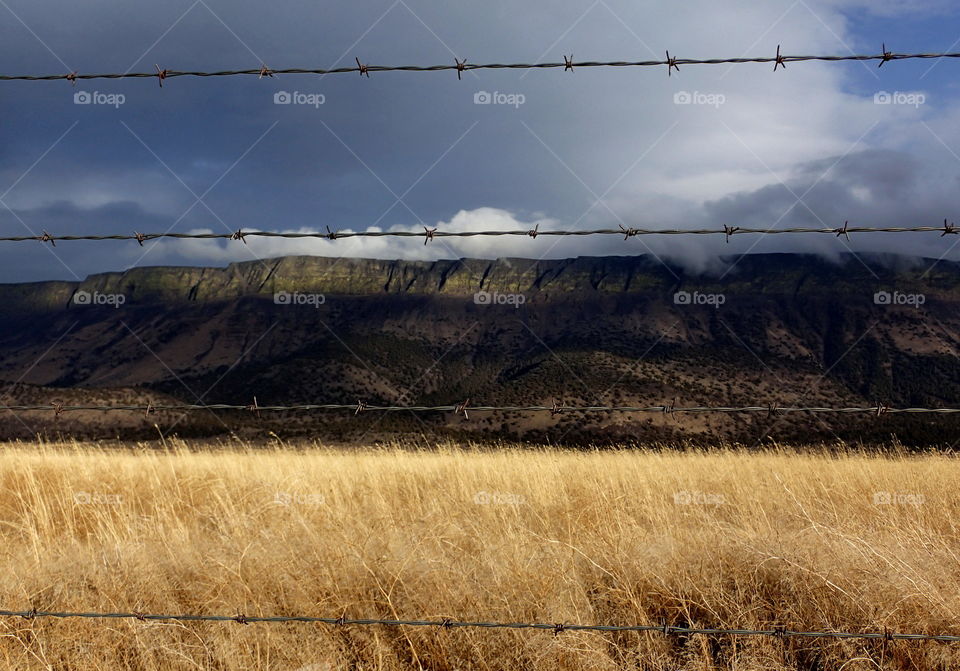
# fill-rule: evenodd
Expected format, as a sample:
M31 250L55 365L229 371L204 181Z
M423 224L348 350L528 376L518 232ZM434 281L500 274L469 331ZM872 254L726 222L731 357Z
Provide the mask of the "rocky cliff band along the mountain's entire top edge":
M861 255L862 258L863 255ZM922 283L936 289L934 281L921 281L909 272L910 266L935 267L933 277L947 280L947 286L960 285L960 264L919 257L894 257L900 269L888 265L858 267L848 256L834 262L807 254L753 254L731 259L733 270L722 277L691 274L682 266L661 263L651 256L581 256L569 259L453 259L439 261L378 260L318 256L284 256L262 261L242 261L223 267L147 266L126 271L90 275L80 281L0 284L0 310L56 309L69 306L77 291L121 293L128 301L209 301L240 296L267 295L279 291L317 291L341 295L437 294L469 296L480 291L530 292L550 296L551 291L602 291L643 293L652 289L679 290L685 282L698 287L741 286L757 273L776 270L778 286L783 287L784 272L795 278L794 290L803 289L802 279L816 277L815 272L833 275L839 286L871 281ZM811 269L811 266L813 269ZM836 271L853 270L848 279ZM729 278L729 279L727 279ZM877 279L879 278L879 279Z

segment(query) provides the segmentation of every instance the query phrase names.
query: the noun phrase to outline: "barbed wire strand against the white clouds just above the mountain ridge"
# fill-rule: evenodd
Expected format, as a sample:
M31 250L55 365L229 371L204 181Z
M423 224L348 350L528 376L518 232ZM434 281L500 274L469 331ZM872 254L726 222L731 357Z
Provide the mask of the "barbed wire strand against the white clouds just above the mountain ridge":
M104 241L104 240L136 240L140 245L151 240L169 238L173 240L239 240L246 243L246 238L316 238L327 240L340 240L343 238L423 238L423 244L427 244L434 238L474 238L474 237L530 237L537 238L544 236L590 236L590 235L622 235L623 239L632 238L638 235L723 235L727 242L734 235L777 235L777 234L797 234L797 233L818 233L831 234L837 237L844 236L848 240L851 233L939 233L941 237L945 235L957 235L960 229L953 223L948 223L944 219L943 224L939 226L850 226L849 222L844 222L843 226L838 228L829 227L791 227L791 228L750 228L743 226L727 226L723 228L629 228L620 226L619 228L599 228L583 231L564 231L564 230L545 230L541 231L539 224L530 229L513 229L502 231L441 231L437 228L423 227L423 232L417 231L331 231L327 227L327 232L280 232L280 231L245 231L238 229L231 233L138 233L132 234L111 233L105 235L53 235L43 231L41 235L10 235L0 236L0 242L49 242L56 246L57 242L70 242L77 240Z

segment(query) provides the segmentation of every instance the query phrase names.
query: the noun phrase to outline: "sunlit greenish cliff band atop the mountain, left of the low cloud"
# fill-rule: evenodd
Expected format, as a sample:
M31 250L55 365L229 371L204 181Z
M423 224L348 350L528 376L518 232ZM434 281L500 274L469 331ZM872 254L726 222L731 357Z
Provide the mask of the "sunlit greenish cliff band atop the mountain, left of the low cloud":
M76 291L123 294L127 303L211 302L279 291L351 296L636 292L669 284L673 278L658 266L643 257L426 262L296 256L226 268L136 268L93 275L83 282L0 285L0 309L9 313L69 308Z

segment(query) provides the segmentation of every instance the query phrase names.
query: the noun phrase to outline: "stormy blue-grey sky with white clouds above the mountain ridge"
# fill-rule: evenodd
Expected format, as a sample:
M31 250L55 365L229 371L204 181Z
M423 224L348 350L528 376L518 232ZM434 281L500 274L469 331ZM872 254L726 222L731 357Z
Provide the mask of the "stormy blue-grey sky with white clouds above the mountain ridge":
M5 73L63 73L332 67L355 56L752 56L778 43L789 54L876 53L881 42L898 52L960 50L960 10L903 4L0 0L0 63ZM0 82L0 231L935 225L957 215L960 60L771 70L177 78L162 89L155 79ZM281 92L323 103L275 104ZM480 92L523 102L475 104ZM876 104L880 92L922 103ZM78 93L124 100L77 104ZM676 104L677 95L702 104ZM0 243L0 281L294 253L654 252L707 268L718 267L717 254L774 249L960 256L947 251L952 238L936 235L809 238Z

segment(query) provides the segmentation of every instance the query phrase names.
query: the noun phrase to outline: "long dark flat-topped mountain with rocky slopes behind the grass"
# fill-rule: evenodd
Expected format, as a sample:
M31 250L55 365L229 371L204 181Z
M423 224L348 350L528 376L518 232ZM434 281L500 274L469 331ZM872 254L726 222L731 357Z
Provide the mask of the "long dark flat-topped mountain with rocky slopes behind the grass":
M0 379L208 403L960 404L960 266L867 262L755 255L711 278L647 257L288 257L0 285ZM361 426L350 422L301 417L284 430ZM770 428L516 414L378 427L705 441ZM801 417L777 420L772 435L944 442L956 429L942 418Z

